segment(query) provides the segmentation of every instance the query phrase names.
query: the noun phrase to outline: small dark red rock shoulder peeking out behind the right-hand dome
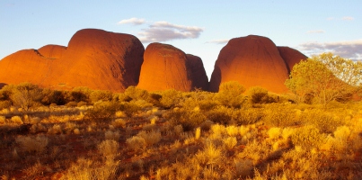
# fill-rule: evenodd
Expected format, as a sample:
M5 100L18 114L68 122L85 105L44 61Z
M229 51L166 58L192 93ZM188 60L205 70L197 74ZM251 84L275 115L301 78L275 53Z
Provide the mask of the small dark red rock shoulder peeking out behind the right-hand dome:
M297 63L308 58L298 50L289 47L278 47L278 50L281 58L287 63L289 73Z

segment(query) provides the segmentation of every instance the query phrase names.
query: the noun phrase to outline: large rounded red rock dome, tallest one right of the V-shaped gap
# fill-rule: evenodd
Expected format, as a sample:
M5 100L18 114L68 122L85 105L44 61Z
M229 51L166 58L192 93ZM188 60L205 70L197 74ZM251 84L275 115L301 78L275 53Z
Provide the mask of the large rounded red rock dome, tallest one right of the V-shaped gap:
M290 51L283 51L283 55L289 57ZM296 61L295 58L287 58L290 66ZM246 88L259 85L271 92L285 93L287 86L284 82L288 78L288 69L277 46L268 38L255 35L235 38L221 49L209 90L217 92L221 83L238 81Z

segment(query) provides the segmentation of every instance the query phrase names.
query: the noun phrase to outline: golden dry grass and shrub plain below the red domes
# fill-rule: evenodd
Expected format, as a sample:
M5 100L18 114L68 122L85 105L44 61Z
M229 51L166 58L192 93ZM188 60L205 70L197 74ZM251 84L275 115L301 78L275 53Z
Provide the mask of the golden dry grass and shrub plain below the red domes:
M3 179L362 178L359 101L296 103L233 84L121 94L19 86L0 91Z

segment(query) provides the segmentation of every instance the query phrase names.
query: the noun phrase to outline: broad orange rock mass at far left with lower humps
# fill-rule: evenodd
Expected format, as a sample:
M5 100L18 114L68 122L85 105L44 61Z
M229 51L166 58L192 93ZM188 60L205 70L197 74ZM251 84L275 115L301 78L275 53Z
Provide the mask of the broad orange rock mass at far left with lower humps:
M30 82L54 89L88 86L122 92L129 85L137 85L144 51L135 36L85 29L75 33L67 48L47 45L3 58L0 82Z

